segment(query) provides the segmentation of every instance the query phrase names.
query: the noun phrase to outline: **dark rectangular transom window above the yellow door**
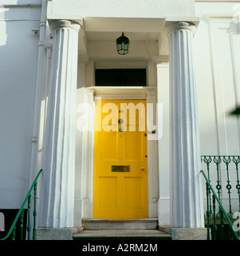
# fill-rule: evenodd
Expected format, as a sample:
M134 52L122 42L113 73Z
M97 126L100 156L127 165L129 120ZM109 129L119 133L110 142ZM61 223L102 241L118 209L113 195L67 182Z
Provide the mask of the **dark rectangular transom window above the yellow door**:
M147 86L146 69L95 70L96 86Z

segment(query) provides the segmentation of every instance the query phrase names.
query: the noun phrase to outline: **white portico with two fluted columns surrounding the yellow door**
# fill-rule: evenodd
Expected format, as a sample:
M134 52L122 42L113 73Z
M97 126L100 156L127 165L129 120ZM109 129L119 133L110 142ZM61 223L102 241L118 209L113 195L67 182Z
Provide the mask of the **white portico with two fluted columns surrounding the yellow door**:
M103 12L98 17L90 8L94 5L97 10L96 2L83 5L82 1L75 1L74 8L60 2L49 2L47 13L53 46L45 146L41 158L45 174L40 191L38 238L47 238L53 231L60 238L69 238L73 227L81 226L82 218L92 218L97 97L141 98L153 106L163 103L163 113L157 113L155 107L153 109L153 123L158 119L159 126L155 139L148 140L148 218L158 218L159 226L171 226L175 239L183 232L191 238L194 234L201 238L205 230L191 50L198 19L191 5L182 1L171 2L171 6L173 2L177 6L187 6L188 13L182 17L171 18L168 12L176 9L167 9L169 6L165 1L146 6L151 9L151 15L148 11L144 14L140 11L138 17L128 13L121 17L122 12L120 15L117 10L114 15L116 8L108 2L113 11L113 18L110 18ZM166 5L165 14L152 13L159 3L160 6ZM143 6L141 10L144 10ZM131 46L128 55L119 56L115 40L123 31ZM109 67L146 68L147 86L95 86L94 70ZM88 107L84 109L83 106ZM168 109L169 119L165 116ZM163 134L166 132L164 136L162 130ZM148 138L151 136L153 134L148 130ZM168 140L169 148L166 148L166 143L161 143L162 139Z

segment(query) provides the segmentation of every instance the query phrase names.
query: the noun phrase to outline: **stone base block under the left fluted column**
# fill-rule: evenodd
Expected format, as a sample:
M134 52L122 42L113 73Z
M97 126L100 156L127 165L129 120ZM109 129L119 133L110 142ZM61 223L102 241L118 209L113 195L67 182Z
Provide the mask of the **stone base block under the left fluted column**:
M37 240L73 240L73 228L37 228Z

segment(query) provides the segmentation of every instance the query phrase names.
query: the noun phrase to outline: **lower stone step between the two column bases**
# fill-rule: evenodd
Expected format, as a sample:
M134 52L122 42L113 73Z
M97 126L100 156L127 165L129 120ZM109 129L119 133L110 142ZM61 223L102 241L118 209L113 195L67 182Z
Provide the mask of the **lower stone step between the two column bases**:
M160 230L82 230L73 240L171 240Z

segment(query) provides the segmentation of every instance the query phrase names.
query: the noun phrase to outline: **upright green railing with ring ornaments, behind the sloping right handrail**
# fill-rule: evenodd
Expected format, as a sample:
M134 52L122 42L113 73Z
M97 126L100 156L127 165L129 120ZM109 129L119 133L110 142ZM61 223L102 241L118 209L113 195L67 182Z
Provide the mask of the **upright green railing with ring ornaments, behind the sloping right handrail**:
M238 171L240 155L202 155L201 161L206 164L207 178L211 186L215 188L218 200L223 205L228 201L228 217L231 218L234 212L240 212L240 178ZM211 194L211 191L209 193ZM210 214L213 214L211 202L209 202L209 207Z

